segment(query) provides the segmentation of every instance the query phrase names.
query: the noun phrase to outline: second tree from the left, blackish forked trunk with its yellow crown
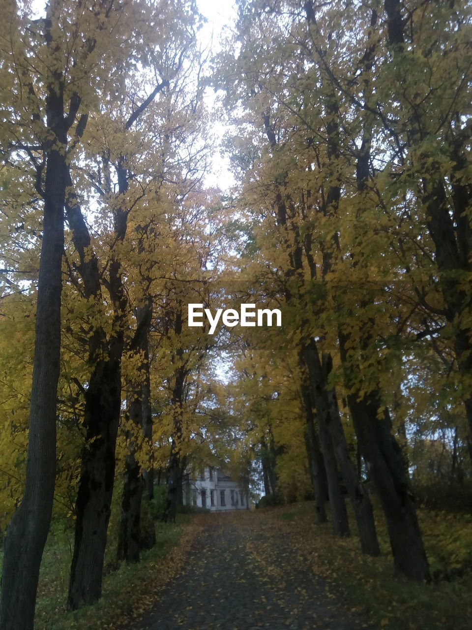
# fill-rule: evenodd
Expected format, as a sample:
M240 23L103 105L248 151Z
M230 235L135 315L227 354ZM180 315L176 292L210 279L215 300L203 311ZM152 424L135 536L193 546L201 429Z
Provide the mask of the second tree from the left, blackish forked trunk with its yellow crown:
M159 121L167 121L172 90L198 26L193 3L179 3L164 12L160 6L145 2L119 10L118 33L132 44L125 59L120 55L115 59L126 69L118 90L123 99L120 103L115 99L103 101L91 113L84 155L87 168L77 169L69 181L66 203L77 256L78 277L72 274L72 282L87 301L90 369L84 387L86 444L77 492L70 610L101 596L121 409L121 359L129 326L124 280L126 234L130 222L140 224L139 212L155 191L159 178L155 165L169 142L169 134ZM157 147L156 137L160 140ZM92 198L103 219L104 256L93 246L82 210Z

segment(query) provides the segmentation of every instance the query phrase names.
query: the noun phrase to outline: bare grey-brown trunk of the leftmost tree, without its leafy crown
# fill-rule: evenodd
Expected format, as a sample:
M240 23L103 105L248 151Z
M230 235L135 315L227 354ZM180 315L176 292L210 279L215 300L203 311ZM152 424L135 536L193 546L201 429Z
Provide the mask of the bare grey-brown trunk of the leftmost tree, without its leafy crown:
M50 95L48 122L57 123L65 147L64 108ZM40 563L50 524L55 486L56 403L60 365L60 295L64 252L64 198L67 166L60 149L50 149L44 192L43 236L35 322L35 355L30 399L25 493L4 542L0 627L30 630L35 616Z

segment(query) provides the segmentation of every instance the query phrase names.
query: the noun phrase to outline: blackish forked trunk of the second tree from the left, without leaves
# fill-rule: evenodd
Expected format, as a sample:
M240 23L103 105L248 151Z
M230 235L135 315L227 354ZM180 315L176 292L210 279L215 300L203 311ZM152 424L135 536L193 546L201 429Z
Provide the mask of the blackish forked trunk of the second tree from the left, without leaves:
M128 190L125 158L115 165L118 190ZM87 251L91 239L75 193L67 200L67 219L79 253L86 297L101 299L101 279L96 255ZM126 235L128 213L120 205L114 209L117 241ZM82 450L81 477L76 500L76 534L70 566L67 608L76 610L101 597L106 533L115 483L115 448L121 410L121 357L125 341L128 300L123 289L120 261L111 257L108 292L113 302L113 333L107 335L94 326L89 339L89 365L92 374L85 392L84 428L86 444Z

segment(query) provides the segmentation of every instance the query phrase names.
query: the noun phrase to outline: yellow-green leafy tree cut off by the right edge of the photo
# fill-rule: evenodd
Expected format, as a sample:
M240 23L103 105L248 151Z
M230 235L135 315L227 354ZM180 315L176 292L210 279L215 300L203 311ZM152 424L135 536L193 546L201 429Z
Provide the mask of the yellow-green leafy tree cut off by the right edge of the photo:
M398 122L408 122L407 129L397 123L392 132L404 152L402 183L415 195L422 229L434 251L444 301L442 315L447 322L443 335L450 340L461 375L472 460L468 289L472 253L471 12L469 4L461 1L444 6L427 3L425 9L422 14L407 13L400 2L385 1L390 58L385 80L391 81L398 98ZM385 115L383 118L385 121ZM407 171L410 181L405 177Z

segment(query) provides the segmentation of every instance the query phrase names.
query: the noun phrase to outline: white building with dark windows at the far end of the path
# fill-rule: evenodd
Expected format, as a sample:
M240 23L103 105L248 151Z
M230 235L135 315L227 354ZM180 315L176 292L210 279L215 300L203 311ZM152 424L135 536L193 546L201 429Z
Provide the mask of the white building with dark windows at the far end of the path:
M184 479L184 505L208 508L211 512L248 510L247 491L218 468L205 468L197 479Z

